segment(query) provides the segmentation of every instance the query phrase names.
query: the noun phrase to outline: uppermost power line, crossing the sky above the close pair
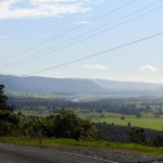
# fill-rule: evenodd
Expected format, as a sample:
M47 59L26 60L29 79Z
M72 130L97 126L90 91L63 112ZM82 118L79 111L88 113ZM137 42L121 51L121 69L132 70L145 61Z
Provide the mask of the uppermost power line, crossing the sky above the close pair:
M114 12L116 12L116 11L118 11L118 10L121 10L121 9L123 9L123 8L125 8L125 7L127 7L127 5L130 5L130 4L135 3L136 1L137 1L137 0L131 0L131 1L129 1L129 2L127 2L127 3L125 3L125 4L123 4L123 5L120 5L120 7L115 8L115 9L113 9L113 10L111 10L111 11L104 13L104 14L101 14L100 16L98 16L98 17L96 17L96 18L90 20L89 23L93 23L93 22L96 22L96 21L98 21L98 20L100 20L100 18L102 18L102 17L104 17L104 16L106 16L106 15L109 15L109 14L112 14L112 13L114 13ZM14 53L14 54L11 54L11 55L9 55L9 57L7 57L7 58L1 59L0 62L1 62L1 61L5 61L5 60L11 59L11 58L14 58L15 55L22 54L22 53L24 53L24 52L26 52L26 51L28 51L28 50L32 50L32 49L35 49L35 48L41 46L41 45L48 43L48 42L50 42L50 41L53 41L54 39L60 38L60 37L66 35L66 34L70 34L70 33L72 33L72 32L75 32L75 30L77 30L77 29L79 29L79 28L82 28L82 27L84 27L84 26L86 26L86 25L87 25L87 24L78 25L77 27L72 28L72 29L70 29L70 30L66 30L66 32L63 32L63 33L61 33L61 34L59 34L59 35L57 35L57 36L50 38L50 39L47 39L47 40L45 40L45 41L41 41L41 42L39 42L39 43L36 43L36 45L30 46L30 47L28 47L28 48L25 48L25 49L23 49L23 50L16 52L16 53Z

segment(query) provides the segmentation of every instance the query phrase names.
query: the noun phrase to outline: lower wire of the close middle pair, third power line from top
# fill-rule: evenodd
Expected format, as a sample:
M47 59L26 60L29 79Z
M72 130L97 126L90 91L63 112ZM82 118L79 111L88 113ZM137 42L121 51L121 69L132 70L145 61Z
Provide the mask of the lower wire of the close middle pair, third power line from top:
M154 3L155 3L155 2L154 2ZM154 4L154 3L152 3L152 4ZM137 11L131 12L131 13L133 13L133 14L134 14L134 13L137 13L138 11L145 10L145 9L151 7L152 4L149 4L149 5L145 7L145 8L141 8L140 10L137 10ZM142 17L142 16L145 16L145 15L147 15L147 14L149 14L149 13L152 13L152 12L154 12L154 11L158 11L159 9L162 9L162 8L163 8L163 5L161 5L161 7L159 7L159 8L155 8L155 9L153 9L153 10L150 10L150 11L148 11L148 12L146 12L146 13L143 13L143 14L140 14L140 15L138 15L138 16L135 16L135 17L133 17L133 18L130 18L130 20L127 20L127 21L125 21L125 22L123 22L123 23L121 23L121 24L117 24L117 25L113 26L113 27L110 27L110 28L108 28L108 29L104 29L104 30L102 30L102 32L100 32L100 33L97 33L97 34L91 35L91 36L89 36L89 37L86 37L86 38L84 38L84 39L77 40L77 41L75 41L75 42L73 42L73 43L68 43L68 45L62 46L61 48L58 48L58 49L55 49L55 50L51 50L51 51L48 51L48 52L46 51L46 50L53 49L53 47L52 47L52 48L46 49L46 50L43 50L43 51L37 52L39 55L34 57L34 54L37 54L37 53L33 53L33 54L32 54L32 57L33 57L32 59L28 59L28 58L27 58L27 60L25 60L25 61L23 61L23 62L22 62L22 60L17 60L17 61L21 61L20 64L23 64L23 63L27 63L27 62L29 62L29 61L33 61L34 59L38 59L38 57L42 57L43 54L40 54L41 52L43 52L43 53L46 52L46 54L47 54L47 53L52 53L52 52L55 52L55 51L63 50L63 49L65 49L65 48L68 48L70 46L74 46L74 45L76 45L76 43L78 43L78 42L85 41L85 40L87 40L87 39L89 39L89 38L92 38L92 37L95 37L95 36L97 36L97 35L100 35L100 34L103 34L103 33L105 33L105 32L112 30L112 29L114 29L114 28L116 28L116 27L120 27L120 26L122 26L122 25L124 25L124 24L127 24L127 23L129 23L129 22L133 22L133 21L135 21L135 20L137 20L137 18L139 18L139 17ZM130 15L130 14L127 14L127 15L125 15L125 16L123 16L123 17L127 17L127 16L129 16L129 15ZM117 20L120 20L120 18L117 18ZM113 21L113 22L115 22L115 21ZM16 66L16 65L20 65L20 64L10 65L10 66L8 66L8 67L1 68L1 71L8 70L8 68L10 68L10 67L13 67L13 66Z

